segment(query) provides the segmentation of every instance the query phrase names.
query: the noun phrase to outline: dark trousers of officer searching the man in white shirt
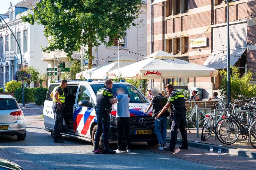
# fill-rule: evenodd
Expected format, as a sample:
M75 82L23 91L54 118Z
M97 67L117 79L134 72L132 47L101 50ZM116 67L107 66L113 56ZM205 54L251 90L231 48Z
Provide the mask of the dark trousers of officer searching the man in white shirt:
M97 123L98 128L95 134L95 146L99 147L100 137L102 135L103 146L106 147L109 145L109 134L110 134L110 116L109 113L106 114L105 111L101 109L96 109Z

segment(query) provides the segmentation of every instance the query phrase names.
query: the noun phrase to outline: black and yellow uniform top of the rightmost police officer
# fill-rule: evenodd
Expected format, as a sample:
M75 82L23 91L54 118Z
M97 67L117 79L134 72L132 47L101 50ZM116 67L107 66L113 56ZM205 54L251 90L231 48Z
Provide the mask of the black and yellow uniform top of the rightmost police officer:
M168 98L168 103L173 104L174 108L186 108L184 94L177 91L176 89L173 90Z

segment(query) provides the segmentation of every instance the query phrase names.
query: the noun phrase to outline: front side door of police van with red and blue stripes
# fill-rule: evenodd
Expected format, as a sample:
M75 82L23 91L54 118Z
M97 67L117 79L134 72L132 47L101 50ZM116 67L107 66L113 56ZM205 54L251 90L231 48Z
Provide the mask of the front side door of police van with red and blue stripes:
M94 111L93 107L83 107L78 105L79 101L82 100L91 101L91 94L91 90L88 88L86 84L79 85L76 103L73 108L74 132L77 135L88 135L87 132L89 126L95 117L91 115L92 111Z

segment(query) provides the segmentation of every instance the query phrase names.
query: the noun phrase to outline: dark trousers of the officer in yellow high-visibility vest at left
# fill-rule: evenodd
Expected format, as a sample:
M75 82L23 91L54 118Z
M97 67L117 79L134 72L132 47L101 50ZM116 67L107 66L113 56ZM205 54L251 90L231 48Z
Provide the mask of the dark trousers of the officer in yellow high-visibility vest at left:
M52 105L52 110L54 113L54 140L58 140L60 137L60 130L62 127L62 119L63 119L63 108L61 107L60 110L58 110L58 105L53 104Z

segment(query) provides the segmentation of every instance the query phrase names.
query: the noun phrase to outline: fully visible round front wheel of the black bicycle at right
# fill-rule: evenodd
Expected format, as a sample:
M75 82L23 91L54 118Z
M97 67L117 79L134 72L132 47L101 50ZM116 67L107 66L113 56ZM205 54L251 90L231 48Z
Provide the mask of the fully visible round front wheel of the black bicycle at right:
M230 118L224 118L217 122L215 132L221 143L231 145L238 140L239 126Z

